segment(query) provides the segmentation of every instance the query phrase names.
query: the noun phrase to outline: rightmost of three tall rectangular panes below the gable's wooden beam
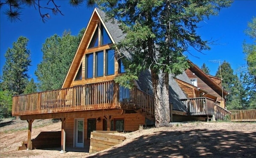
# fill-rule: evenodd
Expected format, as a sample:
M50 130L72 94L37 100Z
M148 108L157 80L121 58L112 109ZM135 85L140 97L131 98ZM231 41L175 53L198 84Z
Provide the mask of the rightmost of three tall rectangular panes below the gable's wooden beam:
M106 52L106 75L113 75L115 73L115 52L114 50L107 50Z

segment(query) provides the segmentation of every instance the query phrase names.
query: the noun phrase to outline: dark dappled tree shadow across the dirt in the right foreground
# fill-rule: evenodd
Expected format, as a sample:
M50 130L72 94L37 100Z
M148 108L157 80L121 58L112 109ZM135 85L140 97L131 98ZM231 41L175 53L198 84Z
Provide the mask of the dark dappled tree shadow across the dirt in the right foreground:
M198 129L155 132L89 158L216 157L255 158L256 132Z

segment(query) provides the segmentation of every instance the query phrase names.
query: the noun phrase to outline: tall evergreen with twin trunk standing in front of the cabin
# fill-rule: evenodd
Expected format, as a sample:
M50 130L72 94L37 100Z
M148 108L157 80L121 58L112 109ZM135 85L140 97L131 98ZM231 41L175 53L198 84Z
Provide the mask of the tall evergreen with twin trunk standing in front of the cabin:
M125 52L130 60L122 59L127 76L138 76L150 69L155 102L155 126L168 126L170 122L169 74L182 73L188 62L183 52L192 46L207 50L207 42L196 33L197 24L210 15L217 15L227 0L89 0L97 3L107 16L116 18L126 34L115 45L120 56ZM125 51L126 50L126 51ZM125 77L125 76L122 76ZM129 77L131 79L131 77ZM136 79L136 77L134 77Z

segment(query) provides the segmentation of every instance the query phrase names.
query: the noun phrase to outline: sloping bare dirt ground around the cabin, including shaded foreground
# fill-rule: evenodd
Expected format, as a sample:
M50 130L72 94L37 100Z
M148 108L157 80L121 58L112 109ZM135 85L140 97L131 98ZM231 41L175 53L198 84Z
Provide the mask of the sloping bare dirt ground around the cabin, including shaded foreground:
M173 123L170 127L118 133L126 140L110 149L89 154L60 150L21 150L27 139L27 121L0 122L1 158L255 158L256 123L192 122ZM32 139L42 131L60 131L58 120L35 120Z

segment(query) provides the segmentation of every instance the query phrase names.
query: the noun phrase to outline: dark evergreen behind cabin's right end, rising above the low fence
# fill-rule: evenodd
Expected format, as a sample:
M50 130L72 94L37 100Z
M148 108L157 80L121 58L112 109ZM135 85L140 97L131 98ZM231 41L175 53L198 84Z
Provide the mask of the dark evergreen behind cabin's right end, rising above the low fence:
M223 89L229 92L225 99L227 109L242 109L240 91L243 88L238 76L234 75L230 64L224 61L218 68L215 76L222 78Z

